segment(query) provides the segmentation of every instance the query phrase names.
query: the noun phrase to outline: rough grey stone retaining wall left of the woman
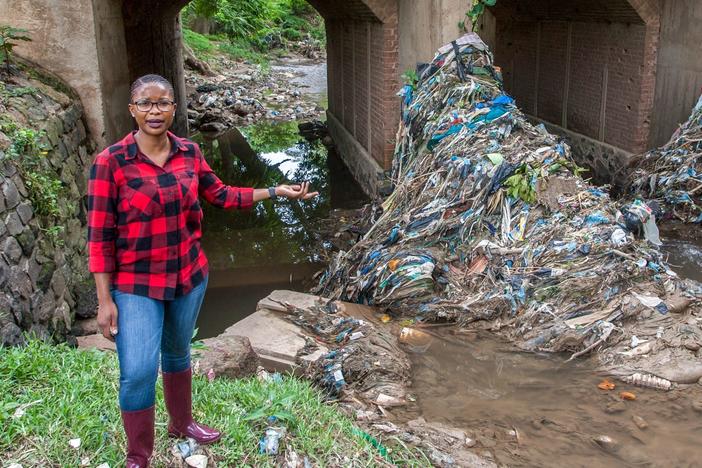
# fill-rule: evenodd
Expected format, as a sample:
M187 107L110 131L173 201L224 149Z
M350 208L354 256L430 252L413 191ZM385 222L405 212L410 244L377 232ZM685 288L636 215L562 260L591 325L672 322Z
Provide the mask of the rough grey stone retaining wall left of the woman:
M76 315L95 313L86 253L86 168L94 147L80 100L27 75L0 81L0 345L24 342L23 332L54 342L72 341ZM51 78L53 83L57 79ZM28 169L12 156L7 125L41 131L40 167L61 181L59 215L39 216L31 201ZM62 227L62 228L61 228ZM54 231L52 235L51 230ZM58 232L58 234L57 234Z

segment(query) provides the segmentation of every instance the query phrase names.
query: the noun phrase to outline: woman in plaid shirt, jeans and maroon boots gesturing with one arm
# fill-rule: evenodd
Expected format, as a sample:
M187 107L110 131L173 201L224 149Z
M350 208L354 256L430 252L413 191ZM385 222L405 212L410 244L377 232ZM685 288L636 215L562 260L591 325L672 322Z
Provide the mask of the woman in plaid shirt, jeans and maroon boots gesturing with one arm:
M268 189L228 186L197 144L168 131L176 112L173 86L146 75L131 88L138 130L97 155L88 184L88 253L98 295L97 321L115 341L127 466L148 466L154 443L159 352L168 433L200 444L221 433L191 413L190 339L207 287L200 247L198 195L224 209L266 198L306 200L308 184Z

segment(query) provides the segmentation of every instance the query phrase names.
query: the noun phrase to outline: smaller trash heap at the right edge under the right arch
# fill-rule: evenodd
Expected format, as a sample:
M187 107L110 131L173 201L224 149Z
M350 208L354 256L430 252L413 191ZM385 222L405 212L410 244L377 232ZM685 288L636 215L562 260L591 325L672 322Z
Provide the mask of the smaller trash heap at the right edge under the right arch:
M702 223L702 96L670 141L635 166L631 193L656 200L668 219Z

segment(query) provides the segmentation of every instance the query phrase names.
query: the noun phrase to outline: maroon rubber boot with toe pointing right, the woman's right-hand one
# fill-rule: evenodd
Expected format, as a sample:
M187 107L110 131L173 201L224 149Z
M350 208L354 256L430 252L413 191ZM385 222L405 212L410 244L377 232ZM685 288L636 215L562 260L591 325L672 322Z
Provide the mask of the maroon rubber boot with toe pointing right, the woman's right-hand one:
M191 369L163 373L163 399L170 416L168 435L190 437L200 445L217 442L222 437L218 430L193 421Z

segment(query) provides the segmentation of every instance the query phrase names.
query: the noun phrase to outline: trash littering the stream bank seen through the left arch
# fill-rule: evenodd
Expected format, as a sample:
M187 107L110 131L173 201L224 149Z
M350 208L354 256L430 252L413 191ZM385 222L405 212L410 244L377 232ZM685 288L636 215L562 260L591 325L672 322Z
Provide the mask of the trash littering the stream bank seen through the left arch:
M222 132L260 121L318 119L324 109L298 89L291 71L220 58L214 76L186 71L188 124L192 130Z

